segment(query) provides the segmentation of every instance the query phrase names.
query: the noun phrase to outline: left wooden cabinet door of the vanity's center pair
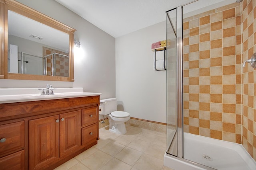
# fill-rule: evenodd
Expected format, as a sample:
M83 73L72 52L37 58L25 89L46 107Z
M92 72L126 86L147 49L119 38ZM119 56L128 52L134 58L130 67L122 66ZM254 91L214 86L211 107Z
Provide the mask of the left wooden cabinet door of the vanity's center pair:
M59 115L29 121L29 166L40 169L59 158Z

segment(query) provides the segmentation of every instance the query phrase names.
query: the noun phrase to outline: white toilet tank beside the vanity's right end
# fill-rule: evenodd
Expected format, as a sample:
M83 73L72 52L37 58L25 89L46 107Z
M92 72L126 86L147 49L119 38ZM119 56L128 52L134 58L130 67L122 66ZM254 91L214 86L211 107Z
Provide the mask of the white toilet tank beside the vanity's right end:
M113 111L116 111L116 98L102 99L100 100L100 115L108 115Z

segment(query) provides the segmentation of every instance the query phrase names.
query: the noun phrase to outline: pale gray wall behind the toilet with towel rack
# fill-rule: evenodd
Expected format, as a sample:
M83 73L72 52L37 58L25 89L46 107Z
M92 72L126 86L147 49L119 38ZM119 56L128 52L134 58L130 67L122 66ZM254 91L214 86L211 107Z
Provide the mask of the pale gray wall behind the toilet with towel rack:
M165 39L165 21L116 38L118 109L131 117L166 123L166 70L153 69L151 50Z

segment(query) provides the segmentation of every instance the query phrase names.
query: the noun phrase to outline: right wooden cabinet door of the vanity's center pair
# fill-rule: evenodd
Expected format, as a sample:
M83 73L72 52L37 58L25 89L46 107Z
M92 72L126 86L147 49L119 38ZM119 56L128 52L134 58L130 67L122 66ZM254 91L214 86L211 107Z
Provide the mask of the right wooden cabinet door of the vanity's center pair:
M78 114L72 111L60 114L60 157L79 149ZM81 139L81 138L80 138Z

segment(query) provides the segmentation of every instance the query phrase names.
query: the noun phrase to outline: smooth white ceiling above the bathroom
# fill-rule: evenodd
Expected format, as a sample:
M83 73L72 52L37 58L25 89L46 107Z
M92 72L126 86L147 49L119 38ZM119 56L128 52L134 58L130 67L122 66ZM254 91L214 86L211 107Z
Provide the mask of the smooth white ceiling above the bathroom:
M165 21L174 0L56 1L116 38Z

